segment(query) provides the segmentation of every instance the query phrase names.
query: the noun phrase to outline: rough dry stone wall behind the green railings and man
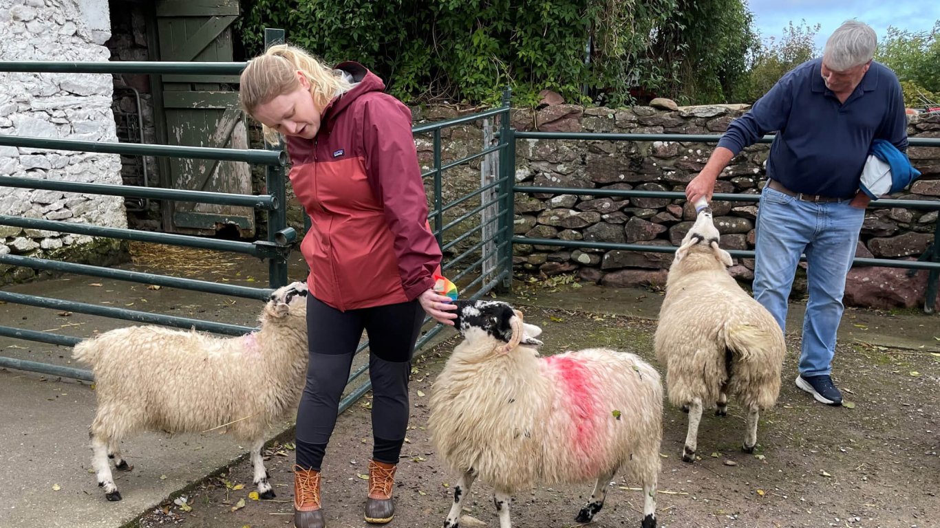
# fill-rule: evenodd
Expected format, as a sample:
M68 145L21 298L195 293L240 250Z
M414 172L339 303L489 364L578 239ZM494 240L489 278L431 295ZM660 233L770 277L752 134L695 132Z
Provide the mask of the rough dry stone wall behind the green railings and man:
M444 107L415 108L415 124L442 120L458 113ZM742 105L685 107L661 110L582 108L561 104L538 111L516 110L512 122L520 131L721 133L744 114ZM940 137L940 116L913 116L912 137ZM447 130L444 163L478 151L481 133L473 127ZM433 162L430 136L416 138L422 167ZM713 144L693 142L613 142L519 140L515 179L518 184L579 189L636 189L682 191L711 154ZM766 180L768 146L746 148L721 175L717 193L759 194ZM910 148L909 155L923 176L894 197L940 200L940 148ZM476 188L478 164L446 172L445 203ZM429 195L431 186L429 185ZM716 201L715 223L727 249L754 248L757 204ZM456 215L461 211L448 211ZM694 209L684 199L612 198L594 195L517 194L517 236L566 241L626 242L674 246L693 224ZM858 245L858 256L916 259L933 240L937 213L923 210L869 210ZM459 233L460 231L458 231ZM452 238L452 237L449 237ZM447 240L448 237L445 238ZM469 241L468 241L469 243ZM583 279L611 287L662 286L672 256L656 252L560 249L517 244L515 269L554 275L577 273ZM730 272L745 284L753 278L753 259L735 259ZM905 270L855 268L849 275L846 303L875 307L923 303L927 272L908 276ZM802 273L793 295L805 293ZM940 306L938 306L940 307Z

